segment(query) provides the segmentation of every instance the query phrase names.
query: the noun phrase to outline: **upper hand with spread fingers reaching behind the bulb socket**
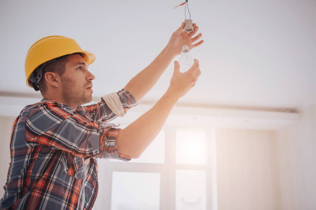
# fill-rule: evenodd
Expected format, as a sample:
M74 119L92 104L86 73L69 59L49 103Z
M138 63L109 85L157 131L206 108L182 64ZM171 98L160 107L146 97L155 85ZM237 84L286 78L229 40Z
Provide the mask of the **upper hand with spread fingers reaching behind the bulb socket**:
M201 33L193 37L198 31L198 26L195 23L193 23L193 31L191 31L190 33L186 33L185 31L183 31L184 26L185 24L184 22L182 22L181 26L173 32L167 44L167 48L172 51L174 56L181 54L183 45L189 46L189 49L192 50L193 48L200 46L204 42L204 40L201 40L198 43L193 44L202 37Z

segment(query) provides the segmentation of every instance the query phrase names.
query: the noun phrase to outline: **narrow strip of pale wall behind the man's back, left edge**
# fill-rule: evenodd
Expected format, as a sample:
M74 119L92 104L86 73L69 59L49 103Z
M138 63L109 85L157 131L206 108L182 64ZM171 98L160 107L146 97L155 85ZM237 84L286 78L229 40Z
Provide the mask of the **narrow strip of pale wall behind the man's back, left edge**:
M10 162L10 137L12 131L12 125L15 121L16 117L10 116L0 116L0 199L3 196L4 190L3 185L7 181L7 174L9 169L9 162Z

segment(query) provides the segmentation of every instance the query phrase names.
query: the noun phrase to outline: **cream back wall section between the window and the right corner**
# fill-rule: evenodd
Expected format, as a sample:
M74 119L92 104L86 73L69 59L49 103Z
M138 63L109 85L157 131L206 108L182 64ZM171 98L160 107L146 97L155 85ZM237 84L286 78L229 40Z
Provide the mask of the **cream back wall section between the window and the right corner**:
M277 209L275 131L216 129L218 209Z

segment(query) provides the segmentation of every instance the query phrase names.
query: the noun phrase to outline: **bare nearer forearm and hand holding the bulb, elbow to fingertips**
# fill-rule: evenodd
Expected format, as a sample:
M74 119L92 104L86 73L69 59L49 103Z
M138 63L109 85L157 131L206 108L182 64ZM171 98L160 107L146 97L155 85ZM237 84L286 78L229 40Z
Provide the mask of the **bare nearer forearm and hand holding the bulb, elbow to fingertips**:
M179 67L175 61L170 86L161 99L129 126L119 130L116 138L119 153L138 158L156 138L178 99L195 85L201 74L198 60L195 59L192 67L184 73L179 71Z

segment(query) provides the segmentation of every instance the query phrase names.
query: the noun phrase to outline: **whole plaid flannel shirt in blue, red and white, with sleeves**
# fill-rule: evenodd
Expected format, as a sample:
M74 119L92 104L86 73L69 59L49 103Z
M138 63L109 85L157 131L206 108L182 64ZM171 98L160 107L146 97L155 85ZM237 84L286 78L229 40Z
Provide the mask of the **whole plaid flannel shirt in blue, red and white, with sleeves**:
M98 192L96 158L128 161L108 122L136 106L122 89L95 105L69 106L42 99L16 118L1 209L92 209Z

